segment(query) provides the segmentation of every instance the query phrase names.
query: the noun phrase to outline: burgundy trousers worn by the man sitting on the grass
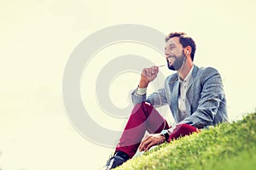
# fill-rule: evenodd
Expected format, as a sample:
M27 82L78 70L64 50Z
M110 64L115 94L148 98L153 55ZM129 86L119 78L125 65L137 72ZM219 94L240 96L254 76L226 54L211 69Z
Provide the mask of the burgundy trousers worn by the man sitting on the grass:
M126 123L125 130L115 151L123 151L131 158L136 154L146 131L148 133L160 133L163 129L169 128L171 127L166 122L166 119L152 105L146 102L137 104L131 111L131 116ZM195 131L197 131L196 127L179 124L173 130L168 142Z

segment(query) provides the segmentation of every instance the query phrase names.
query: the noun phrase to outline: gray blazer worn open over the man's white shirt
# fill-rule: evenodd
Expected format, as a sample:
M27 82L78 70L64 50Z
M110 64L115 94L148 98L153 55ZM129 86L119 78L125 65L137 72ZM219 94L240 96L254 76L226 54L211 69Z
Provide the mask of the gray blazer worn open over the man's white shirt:
M199 68L194 65L187 90L186 108L189 116L181 120L178 115L178 74L166 78L165 87L150 94L138 95L135 90L131 94L134 105L148 102L154 107L169 105L177 124L186 123L203 128L227 122L226 99L222 79L218 71L212 67Z

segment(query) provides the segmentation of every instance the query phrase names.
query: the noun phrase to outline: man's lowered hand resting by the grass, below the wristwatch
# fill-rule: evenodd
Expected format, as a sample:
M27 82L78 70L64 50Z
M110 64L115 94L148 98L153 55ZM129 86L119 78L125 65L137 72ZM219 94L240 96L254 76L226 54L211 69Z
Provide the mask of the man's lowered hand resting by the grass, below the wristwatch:
M148 151L152 146L162 144L166 141L166 137L160 133L148 134L139 145L140 151Z

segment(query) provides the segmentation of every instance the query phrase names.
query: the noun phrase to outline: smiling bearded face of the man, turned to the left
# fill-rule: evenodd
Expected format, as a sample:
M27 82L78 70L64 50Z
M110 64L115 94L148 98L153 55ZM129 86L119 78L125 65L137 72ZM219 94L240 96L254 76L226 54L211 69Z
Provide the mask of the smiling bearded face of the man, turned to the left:
M179 37L172 37L166 42L165 54L168 68L173 71L179 70L185 59Z

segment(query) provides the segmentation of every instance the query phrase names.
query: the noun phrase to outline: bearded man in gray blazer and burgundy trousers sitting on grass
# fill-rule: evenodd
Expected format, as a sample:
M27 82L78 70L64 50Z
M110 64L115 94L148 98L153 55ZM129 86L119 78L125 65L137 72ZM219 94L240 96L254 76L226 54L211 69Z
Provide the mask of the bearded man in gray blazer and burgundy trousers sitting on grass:
M156 144L228 121L222 79L212 67L193 64L194 40L183 32L171 33L166 37L165 54L168 68L177 72L166 78L164 88L146 97L148 83L157 77L159 67L143 69L132 93L135 107L107 169L131 159L137 149L147 151ZM177 123L174 127L154 109L162 105L170 106ZM149 135L143 139L146 131Z

